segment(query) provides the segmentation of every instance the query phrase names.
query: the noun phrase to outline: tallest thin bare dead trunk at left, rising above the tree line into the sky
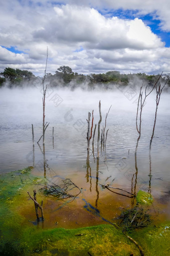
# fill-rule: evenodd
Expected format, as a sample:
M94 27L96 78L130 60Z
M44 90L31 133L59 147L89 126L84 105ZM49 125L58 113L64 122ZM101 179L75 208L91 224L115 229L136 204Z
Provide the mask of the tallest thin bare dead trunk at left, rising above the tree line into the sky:
M48 59L48 48L46 50L46 65L47 65L47 59ZM45 143L45 131L46 131L46 128L48 127L48 125L49 125L49 122L45 123L45 95L46 95L47 85L44 86L44 80L45 80L45 77L46 77L46 65L45 65L44 76L43 76L43 79L42 79L42 88L43 88L43 97L42 97L43 118L42 118L42 136L40 137L40 139L43 138L43 144ZM39 139L39 141L40 141L40 139Z

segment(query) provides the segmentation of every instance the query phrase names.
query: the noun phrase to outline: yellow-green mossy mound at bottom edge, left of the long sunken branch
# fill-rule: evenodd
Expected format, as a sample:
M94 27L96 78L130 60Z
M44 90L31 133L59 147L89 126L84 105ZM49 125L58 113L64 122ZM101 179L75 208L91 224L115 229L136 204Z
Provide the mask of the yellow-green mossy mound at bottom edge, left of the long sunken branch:
M31 245L30 245L31 244ZM41 255L140 255L136 246L112 225L78 229L55 228L29 236L29 252ZM90 255L89 254L89 255Z

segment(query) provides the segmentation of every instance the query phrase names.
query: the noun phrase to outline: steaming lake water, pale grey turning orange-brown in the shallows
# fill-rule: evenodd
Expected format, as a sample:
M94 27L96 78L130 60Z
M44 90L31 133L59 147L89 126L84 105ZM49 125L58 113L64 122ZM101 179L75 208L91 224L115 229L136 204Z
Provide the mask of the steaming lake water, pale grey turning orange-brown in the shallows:
M127 90L85 91L76 89L48 90L45 120L45 155L42 154L42 93L40 88L0 89L0 172L34 166L32 173L59 184L69 178L81 190L71 202L49 199L44 205L44 226L72 228L115 222L123 209L131 207L131 198L102 189L101 184L128 192L151 191L153 204L149 211L155 223L169 220L170 195L170 95L162 93L149 162L149 141L155 111L152 93L142 112L141 139L138 144L135 169L137 131L135 116L138 89L133 95ZM92 152L87 156L88 111L94 110L94 125L98 123L98 102L101 101L102 129L105 114L108 129L105 148L100 147L96 159L97 127ZM91 117L92 119L92 117ZM31 124L34 128L34 150ZM53 127L53 136L52 136ZM101 133L100 133L101 135ZM44 161L45 159L45 161ZM38 188L37 188L38 190ZM114 192L117 192L114 190ZM120 192L120 191L119 191ZM127 193L125 193L127 195ZM32 218L32 212L23 210Z

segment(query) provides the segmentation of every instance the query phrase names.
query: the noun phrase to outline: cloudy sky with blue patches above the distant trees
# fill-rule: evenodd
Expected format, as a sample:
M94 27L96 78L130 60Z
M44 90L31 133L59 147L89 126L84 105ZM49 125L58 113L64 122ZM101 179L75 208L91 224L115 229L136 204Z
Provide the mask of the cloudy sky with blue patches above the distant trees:
M0 0L0 72L170 73L169 0Z

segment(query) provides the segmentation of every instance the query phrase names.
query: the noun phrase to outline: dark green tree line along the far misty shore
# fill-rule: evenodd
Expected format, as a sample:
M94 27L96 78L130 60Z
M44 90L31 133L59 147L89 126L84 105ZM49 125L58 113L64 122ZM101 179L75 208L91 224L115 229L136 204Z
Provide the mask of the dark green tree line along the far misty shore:
M158 74L159 75L159 74ZM130 81L134 81L136 77L143 80L148 85L153 85L158 75L147 75L145 73L136 74L120 74L119 71L108 71L100 74L83 75L73 72L68 66L60 66L57 68L54 74L46 73L45 81L51 87L67 86L67 87L78 87L80 84L86 82L89 87L95 86L95 84L103 85L127 85ZM169 74L164 74L161 80L169 78ZM20 70L18 68L6 67L3 72L0 73L0 86L6 84L9 87L12 86L23 86L27 83L36 83L41 80L41 77L35 76L32 72L27 70ZM163 82L162 81L162 82ZM168 82L170 85L170 82Z

